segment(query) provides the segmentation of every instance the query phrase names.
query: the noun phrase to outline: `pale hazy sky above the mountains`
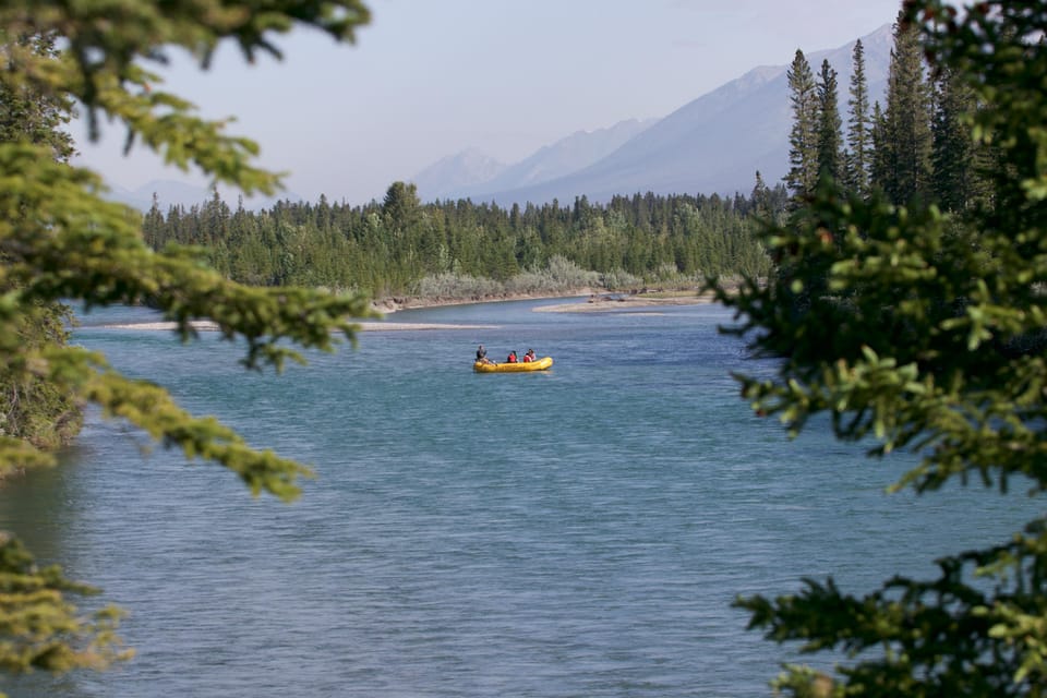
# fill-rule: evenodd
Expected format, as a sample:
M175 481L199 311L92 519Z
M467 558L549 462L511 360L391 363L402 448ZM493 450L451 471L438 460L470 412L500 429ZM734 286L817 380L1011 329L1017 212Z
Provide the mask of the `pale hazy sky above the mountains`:
M245 65L222 47L208 72L176 61L165 87L258 142L287 189L350 204L381 198L446 155L505 163L576 131L667 116L796 49L837 48L890 24L900 0L365 0L354 45L299 31L285 59ZM109 127L81 164L117 186L205 183ZM77 139L82 132L74 130Z

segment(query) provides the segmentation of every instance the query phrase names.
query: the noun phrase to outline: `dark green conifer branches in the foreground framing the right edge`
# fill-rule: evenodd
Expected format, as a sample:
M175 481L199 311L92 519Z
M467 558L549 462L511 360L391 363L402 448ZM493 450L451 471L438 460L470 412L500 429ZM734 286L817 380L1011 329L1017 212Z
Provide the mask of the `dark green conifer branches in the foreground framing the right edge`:
M771 282L718 290L738 311L731 332L780 361L772 378L738 376L754 409L794 433L827 414L838 438L871 441L874 457L916 454L895 488L1047 488L1045 31L1039 2L977 3L962 17L937 0L906 3L899 35L920 33L935 69L973 91L965 118L974 147L992 152L991 198L948 216L826 182L766 230ZM786 667L775 685L791 695L1045 695L1047 519L937 565L936 578L894 577L866 595L808 579L737 605L770 639L843 653L834 679Z

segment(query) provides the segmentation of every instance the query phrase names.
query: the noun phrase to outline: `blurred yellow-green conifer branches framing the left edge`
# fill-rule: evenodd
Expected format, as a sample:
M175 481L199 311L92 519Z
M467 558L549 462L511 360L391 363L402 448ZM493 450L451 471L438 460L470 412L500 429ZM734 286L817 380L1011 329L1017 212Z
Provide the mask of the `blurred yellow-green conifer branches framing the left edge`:
M93 133L105 118L124 127L129 147L141 142L169 164L198 167L245 192L273 193L279 177L251 165L257 146L158 89L160 81L145 65L177 47L206 67L224 39L238 43L248 60L258 51L278 56L275 35L297 24L351 40L366 20L358 0L33 0L0 7L0 472L52 462L37 447L48 445L34 435L37 418L74 428L79 417L69 414L85 400L189 457L229 468L255 494L298 494L306 467L249 447L215 420L181 410L161 387L129 380L104 357L67 346L60 302L148 301L185 340L195 336L193 321L209 318L222 337L243 342L245 366L279 370L287 359L301 360L294 344L330 350L337 335L352 341L351 318L370 315L366 298L250 288L208 268L197 251L155 252L143 240L141 216L105 201L98 177L68 164L72 142L60 129L80 104ZM217 201L207 216L212 228L236 222ZM156 222L156 216L146 220L151 234ZM70 602L71 594L88 591L55 567L35 567L16 541L4 538L0 670L101 669L127 657L113 610L89 616Z

